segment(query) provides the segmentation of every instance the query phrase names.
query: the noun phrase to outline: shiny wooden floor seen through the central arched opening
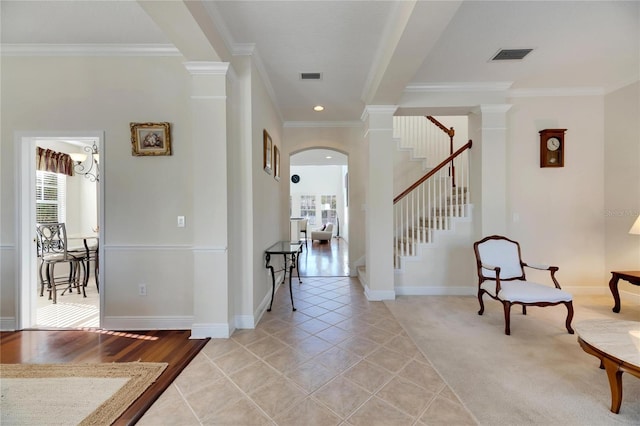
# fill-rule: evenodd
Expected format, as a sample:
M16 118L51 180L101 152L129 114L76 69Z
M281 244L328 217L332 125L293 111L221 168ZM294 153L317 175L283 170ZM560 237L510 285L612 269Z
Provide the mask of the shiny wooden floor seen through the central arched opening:
M342 238L322 243L308 240L300 254L299 268L303 277L348 277L348 245Z

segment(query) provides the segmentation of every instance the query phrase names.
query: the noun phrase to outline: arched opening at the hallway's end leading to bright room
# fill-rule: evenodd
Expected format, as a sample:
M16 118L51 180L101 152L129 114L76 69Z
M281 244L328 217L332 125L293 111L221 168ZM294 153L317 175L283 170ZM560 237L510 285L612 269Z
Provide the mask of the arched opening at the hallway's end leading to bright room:
M306 219L307 226L299 258L300 273L316 277L349 276L347 155L325 148L294 153L290 156L290 175L290 216ZM314 239L314 231L323 228L332 231L331 237Z

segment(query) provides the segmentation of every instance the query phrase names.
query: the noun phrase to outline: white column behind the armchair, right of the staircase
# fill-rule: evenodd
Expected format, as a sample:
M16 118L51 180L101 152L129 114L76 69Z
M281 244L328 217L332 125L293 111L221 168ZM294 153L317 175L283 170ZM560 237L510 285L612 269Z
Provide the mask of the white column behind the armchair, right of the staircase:
M476 237L507 232L507 113L509 104L481 105L469 116L471 200Z

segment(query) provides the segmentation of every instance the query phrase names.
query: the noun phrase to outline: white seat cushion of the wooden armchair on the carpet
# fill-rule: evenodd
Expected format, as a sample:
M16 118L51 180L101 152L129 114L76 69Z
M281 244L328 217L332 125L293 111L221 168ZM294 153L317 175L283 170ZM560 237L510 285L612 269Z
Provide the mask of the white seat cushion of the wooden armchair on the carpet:
M480 288L486 290L492 296L496 295L495 281L484 281L480 284ZM498 298L508 302L521 303L559 303L569 302L573 299L571 294L564 290L522 280L500 280L500 293L498 294Z

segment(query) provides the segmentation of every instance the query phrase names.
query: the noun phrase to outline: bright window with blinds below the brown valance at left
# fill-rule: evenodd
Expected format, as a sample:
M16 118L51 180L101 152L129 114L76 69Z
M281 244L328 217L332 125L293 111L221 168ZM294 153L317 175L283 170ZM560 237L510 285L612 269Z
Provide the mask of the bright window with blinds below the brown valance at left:
M36 223L57 223L66 220L65 175L36 171Z

